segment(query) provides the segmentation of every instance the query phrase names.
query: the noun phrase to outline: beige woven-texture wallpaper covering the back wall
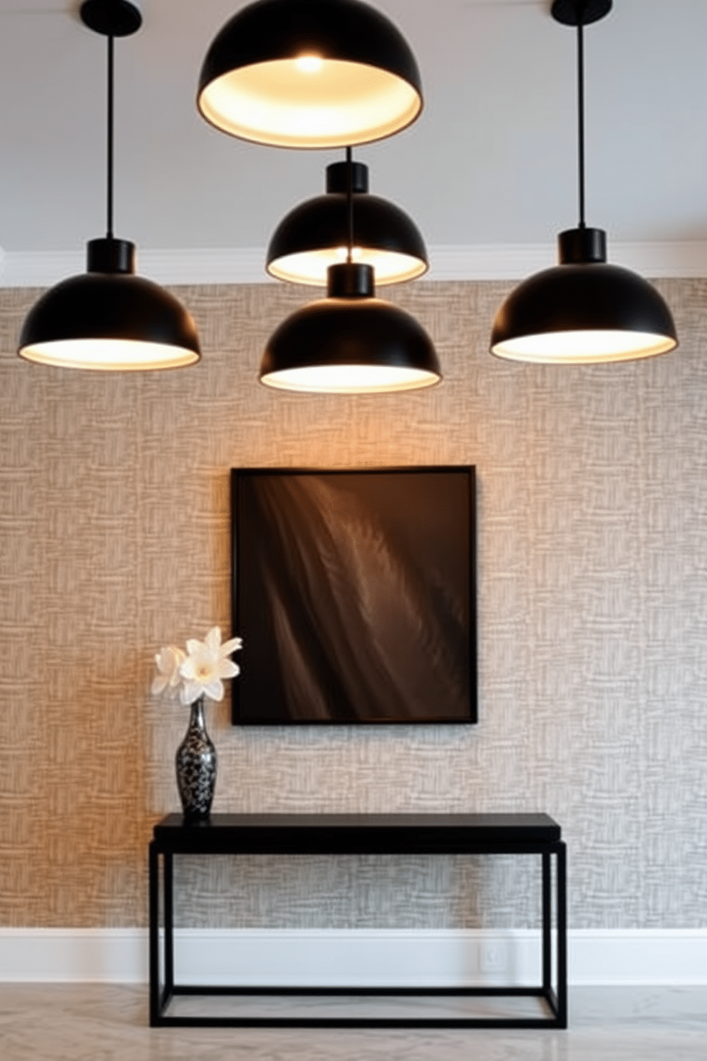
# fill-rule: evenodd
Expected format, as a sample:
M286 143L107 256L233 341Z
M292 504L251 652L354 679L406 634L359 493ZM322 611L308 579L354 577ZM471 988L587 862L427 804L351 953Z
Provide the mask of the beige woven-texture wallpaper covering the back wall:
M155 650L229 627L229 469L475 464L479 725L257 729L208 709L218 811L546 811L575 927L707 925L707 281L660 284L677 352L594 367L488 353L500 283L390 296L444 383L304 397L257 382L311 294L189 288L204 361L103 376L15 356L0 293L0 920L146 921L184 709ZM533 860L178 867L182 923L534 923Z

